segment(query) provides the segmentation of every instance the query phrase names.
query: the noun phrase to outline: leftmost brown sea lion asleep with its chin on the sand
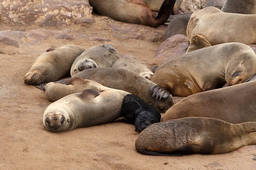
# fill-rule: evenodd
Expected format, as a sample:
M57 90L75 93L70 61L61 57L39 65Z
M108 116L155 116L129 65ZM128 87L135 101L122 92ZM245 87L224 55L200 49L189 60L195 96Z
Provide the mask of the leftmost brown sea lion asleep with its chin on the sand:
M70 74L70 68L85 48L79 45L64 45L49 48L33 63L32 68L24 77L24 83L39 85L44 82L55 82Z

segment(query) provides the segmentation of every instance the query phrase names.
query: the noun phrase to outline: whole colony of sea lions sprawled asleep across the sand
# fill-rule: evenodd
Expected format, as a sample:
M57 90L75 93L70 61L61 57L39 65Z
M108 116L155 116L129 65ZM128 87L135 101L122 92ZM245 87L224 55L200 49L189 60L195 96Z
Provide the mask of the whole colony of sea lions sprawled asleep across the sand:
M111 0L106 6L102 5L104 2L107 1L94 0L91 5L115 20L146 26L163 24L172 9L180 13L180 2L175 5L175 0L164 0L157 16L145 5L153 8L153 1ZM207 17L199 15L210 16L208 20L220 30L236 27L235 23L222 23L226 15L226 20L241 18L248 27L255 28L251 18L256 15L232 14L239 11L239 7L230 5L236 3L225 3L229 14L215 7L192 14L186 29L191 37L187 54L160 65L154 73L139 61L120 59L118 51L108 44L87 50L78 45L49 48L24 77L24 83L44 90L53 102L44 112L44 126L49 131L62 132L121 120L142 131L135 147L146 155L218 154L256 144L256 82L246 81L256 74L256 54L239 43L241 38L241 42L256 43L254 32L249 35L247 29L237 27L234 34L239 32L240 36L229 37L233 34L215 31L205 24ZM242 4L247 10L247 2ZM254 3L248 3L251 4ZM129 12L120 13L120 8L138 10L125 18L123 15ZM214 13L223 15L220 21L219 15L214 19ZM245 34L250 39L244 38ZM69 73L72 78L58 81ZM221 88L225 83L231 87ZM188 97L175 104L172 95ZM159 111L166 112L161 122Z

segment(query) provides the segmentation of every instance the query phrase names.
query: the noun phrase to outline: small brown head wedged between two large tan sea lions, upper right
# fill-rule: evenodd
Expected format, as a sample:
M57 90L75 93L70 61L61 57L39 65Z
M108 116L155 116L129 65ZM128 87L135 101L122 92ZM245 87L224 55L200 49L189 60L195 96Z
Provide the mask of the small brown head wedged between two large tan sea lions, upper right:
M187 49L186 53L210 46L212 45L206 40L204 35L196 34L191 38L189 48Z

